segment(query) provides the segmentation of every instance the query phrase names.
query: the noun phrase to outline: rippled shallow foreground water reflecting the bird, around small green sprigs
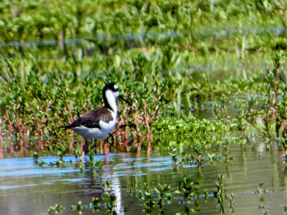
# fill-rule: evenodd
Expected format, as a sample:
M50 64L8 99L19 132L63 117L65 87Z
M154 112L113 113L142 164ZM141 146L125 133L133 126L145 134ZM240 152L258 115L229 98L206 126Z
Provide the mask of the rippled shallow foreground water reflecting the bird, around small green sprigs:
M187 150L188 151L188 150ZM218 146L206 149L207 152L222 154ZM189 150L191 152L191 150ZM45 165L35 166L32 158L11 158L0 160L0 214L47 214L49 206L55 204L67 206L82 201L83 205L92 202L92 197L100 197L101 183L110 179L113 192L117 196L118 214L144 214L143 202L136 197L137 191L144 188L148 182L150 188L158 184L169 184L172 190L178 189L178 182L184 177L199 177L197 166L185 165L175 168L171 156L154 151L150 156L145 154L109 154L108 165L101 172L86 168L84 174L75 168L75 157L66 156L65 161L73 160L61 168ZM269 214L284 214L286 204L287 180L284 175L285 163L281 152L276 146L269 151L264 144L256 144L246 151L239 145L230 146L230 154L234 160L229 167L224 160L218 162L204 162L201 167L202 182L199 185L200 194L199 214L220 214L217 202L212 197L216 187L217 175L224 175L224 189L228 194L234 194L235 214L263 214L263 204ZM57 157L43 157L39 161L54 162ZM88 160L88 156L86 156ZM104 160L103 155L95 155L95 160ZM259 182L264 182L267 193L260 196L257 193ZM136 192L130 192L132 191ZM204 189L208 190L209 201L205 202ZM175 214L184 207L181 198L173 194L172 204L165 205L166 214ZM264 201L263 201L264 200ZM190 207L194 207L191 204ZM230 214L229 199L225 200L226 214ZM265 211L264 210L264 211ZM77 211L63 210L59 214L78 214ZM85 208L82 214L106 214L104 205L98 212ZM155 207L154 214L159 214Z

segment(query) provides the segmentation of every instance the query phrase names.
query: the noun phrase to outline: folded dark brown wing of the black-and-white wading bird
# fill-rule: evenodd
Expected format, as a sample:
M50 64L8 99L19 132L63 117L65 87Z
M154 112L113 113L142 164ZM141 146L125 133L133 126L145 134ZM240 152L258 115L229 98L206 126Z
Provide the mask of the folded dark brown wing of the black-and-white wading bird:
M88 111L84 115L80 116L71 125L64 126L64 128L74 128L80 125L88 128L101 128L99 125L100 120L106 123L113 120L113 116L111 115L110 111L105 107L98 107L97 109Z

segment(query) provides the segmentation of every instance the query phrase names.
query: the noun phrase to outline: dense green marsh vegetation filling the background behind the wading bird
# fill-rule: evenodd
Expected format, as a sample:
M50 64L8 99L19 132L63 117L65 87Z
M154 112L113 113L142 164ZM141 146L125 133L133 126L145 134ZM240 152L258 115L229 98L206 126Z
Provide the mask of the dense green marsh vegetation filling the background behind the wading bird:
M226 110L248 107L250 96L268 109L274 84L264 76L280 50L278 74L286 78L286 9L277 0L3 0L1 142L33 136L67 142L71 132L57 127L100 105L101 89L110 81L134 104L128 109L120 103L122 144L129 139L148 145L162 134L166 142L174 134L177 141L244 134L246 122L230 119ZM284 82L280 86L284 95ZM196 117L202 108L213 111L212 120ZM246 114L252 125L256 115L270 118Z

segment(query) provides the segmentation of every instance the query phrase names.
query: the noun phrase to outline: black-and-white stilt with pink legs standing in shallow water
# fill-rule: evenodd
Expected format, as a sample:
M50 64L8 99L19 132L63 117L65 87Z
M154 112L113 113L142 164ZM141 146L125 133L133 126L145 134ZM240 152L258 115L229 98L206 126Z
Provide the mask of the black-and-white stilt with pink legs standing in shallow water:
M131 105L131 103L119 94L119 86L115 83L106 84L103 88L102 96L104 99L104 106L88 111L70 125L61 127L65 129L71 128L75 133L85 138L82 155L85 154L88 140L92 139L103 139L104 152L105 154L108 153L106 139L117 122L118 109L116 98L119 97Z

